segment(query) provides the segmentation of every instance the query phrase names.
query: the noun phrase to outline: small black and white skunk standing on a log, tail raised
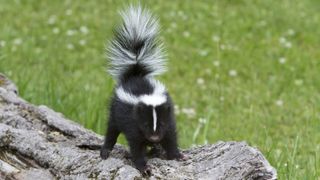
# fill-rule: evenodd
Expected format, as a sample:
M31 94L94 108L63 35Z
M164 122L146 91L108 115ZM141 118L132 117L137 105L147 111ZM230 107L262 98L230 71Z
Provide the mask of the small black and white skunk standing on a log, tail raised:
M161 145L168 159L184 159L177 145L173 102L165 86L154 78L165 69L162 44L157 40L158 21L149 11L130 6L120 12L123 24L115 30L109 47L110 74L117 86L101 148L106 159L124 133L138 170L150 175L146 165L148 145Z

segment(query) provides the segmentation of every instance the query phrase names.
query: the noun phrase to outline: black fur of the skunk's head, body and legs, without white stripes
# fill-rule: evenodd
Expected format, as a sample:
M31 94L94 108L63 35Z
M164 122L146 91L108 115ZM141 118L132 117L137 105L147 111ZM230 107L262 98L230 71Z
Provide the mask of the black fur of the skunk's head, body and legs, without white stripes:
M135 95L149 94L153 88L144 77L132 77L122 84L125 90ZM146 150L147 146L160 144L166 151L168 159L181 159L176 135L176 124L174 119L174 108L169 94L166 94L167 102L157 106L157 130L153 133L152 107L140 103L131 105L122 102L114 95L111 101L110 115L106 138L101 149L101 157L109 156L120 132L124 133L132 161L141 172L147 170ZM150 140L150 136L158 135L158 142Z

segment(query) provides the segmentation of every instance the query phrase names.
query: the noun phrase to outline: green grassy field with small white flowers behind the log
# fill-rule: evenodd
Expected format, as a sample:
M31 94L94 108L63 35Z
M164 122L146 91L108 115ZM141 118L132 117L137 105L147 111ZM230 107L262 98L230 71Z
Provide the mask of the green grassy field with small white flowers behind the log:
M161 20L182 147L246 141L279 179L320 179L320 1L145 1ZM106 42L125 1L0 0L0 72L103 134ZM120 142L124 143L123 137Z

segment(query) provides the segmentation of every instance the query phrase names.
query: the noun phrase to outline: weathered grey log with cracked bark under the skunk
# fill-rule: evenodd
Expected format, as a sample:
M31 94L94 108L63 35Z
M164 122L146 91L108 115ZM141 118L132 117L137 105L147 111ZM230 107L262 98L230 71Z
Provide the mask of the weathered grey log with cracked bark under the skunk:
M32 105L0 74L0 179L141 179L125 147L102 160L102 137L46 106ZM152 158L151 179L276 179L259 150L217 142L183 151L187 161Z

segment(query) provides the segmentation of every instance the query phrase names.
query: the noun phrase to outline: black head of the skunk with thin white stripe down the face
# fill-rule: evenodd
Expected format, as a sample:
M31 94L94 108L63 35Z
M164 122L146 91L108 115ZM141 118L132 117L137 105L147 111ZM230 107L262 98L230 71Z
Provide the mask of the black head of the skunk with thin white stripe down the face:
M156 106L140 102L135 106L135 118L140 131L148 141L161 141L168 125L172 123L171 111L170 102Z

